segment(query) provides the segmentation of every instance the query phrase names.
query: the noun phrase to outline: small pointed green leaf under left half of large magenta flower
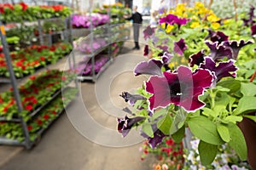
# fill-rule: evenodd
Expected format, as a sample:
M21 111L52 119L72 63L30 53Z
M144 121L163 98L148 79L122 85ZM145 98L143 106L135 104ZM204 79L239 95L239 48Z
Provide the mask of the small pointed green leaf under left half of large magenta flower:
M170 128L172 127L172 117L167 112L166 116L162 117L159 122L157 122L157 127L160 131L166 135L170 134Z

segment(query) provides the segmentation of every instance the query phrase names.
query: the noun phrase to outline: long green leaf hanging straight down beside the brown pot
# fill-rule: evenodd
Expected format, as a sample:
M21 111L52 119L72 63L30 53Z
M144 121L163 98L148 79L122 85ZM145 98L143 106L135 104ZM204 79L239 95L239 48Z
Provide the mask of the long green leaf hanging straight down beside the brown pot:
M244 139L243 133L239 127L234 123L229 123L229 131L230 131L230 147L236 151L236 154L241 158L241 161L247 160L247 144Z

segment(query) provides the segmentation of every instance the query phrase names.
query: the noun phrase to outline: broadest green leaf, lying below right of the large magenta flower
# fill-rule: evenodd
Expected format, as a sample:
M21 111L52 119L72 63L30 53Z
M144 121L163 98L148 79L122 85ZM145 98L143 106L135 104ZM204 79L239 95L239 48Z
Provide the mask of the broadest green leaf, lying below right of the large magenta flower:
M191 116L188 120L189 129L195 137L209 144L224 144L220 138L217 126L205 116Z

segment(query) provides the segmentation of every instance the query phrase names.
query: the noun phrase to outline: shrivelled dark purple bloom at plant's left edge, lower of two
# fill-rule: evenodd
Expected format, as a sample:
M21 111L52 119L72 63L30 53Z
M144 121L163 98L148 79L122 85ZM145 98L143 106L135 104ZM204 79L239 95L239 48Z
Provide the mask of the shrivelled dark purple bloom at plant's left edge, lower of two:
M131 127L136 126L138 122L142 122L145 117L137 116L133 118L129 118L125 116L124 119L118 118L118 131L122 133L123 137L125 137L131 130Z

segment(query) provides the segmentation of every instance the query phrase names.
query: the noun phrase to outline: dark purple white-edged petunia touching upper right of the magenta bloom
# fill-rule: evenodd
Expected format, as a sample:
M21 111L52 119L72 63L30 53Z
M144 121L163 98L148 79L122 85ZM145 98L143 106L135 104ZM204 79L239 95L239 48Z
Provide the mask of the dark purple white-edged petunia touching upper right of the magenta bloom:
M215 79L214 82L218 82L223 77L236 77L237 67L234 63L235 60L230 59L226 62L219 62L218 66L216 66L212 58L206 57L205 63L201 64L200 68L212 71Z

